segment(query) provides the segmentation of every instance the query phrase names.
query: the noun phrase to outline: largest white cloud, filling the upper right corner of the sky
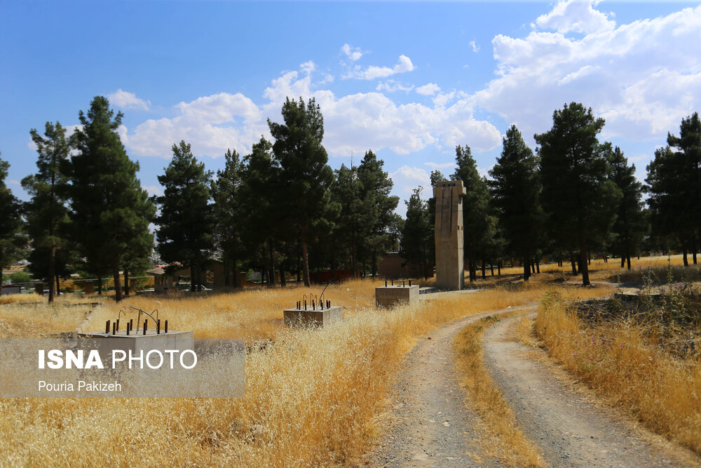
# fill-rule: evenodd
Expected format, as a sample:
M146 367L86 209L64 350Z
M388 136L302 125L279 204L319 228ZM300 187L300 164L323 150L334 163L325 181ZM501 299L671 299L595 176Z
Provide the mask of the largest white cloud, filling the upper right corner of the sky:
M579 101L604 116L604 138L631 140L664 136L701 107L701 6L626 25L596 6L560 2L528 36L496 36L498 76L475 105L530 138L552 126L554 109Z

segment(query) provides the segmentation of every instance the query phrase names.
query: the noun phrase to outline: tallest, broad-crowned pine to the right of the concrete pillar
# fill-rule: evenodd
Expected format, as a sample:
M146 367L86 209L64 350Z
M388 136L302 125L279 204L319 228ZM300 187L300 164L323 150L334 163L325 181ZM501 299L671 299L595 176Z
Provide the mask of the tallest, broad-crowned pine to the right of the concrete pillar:
M589 281L589 248L606 236L615 220L620 191L608 180L608 161L597 134L604 119L578 102L552 115L552 128L534 135L540 145L543 208L560 246L579 250L584 286Z

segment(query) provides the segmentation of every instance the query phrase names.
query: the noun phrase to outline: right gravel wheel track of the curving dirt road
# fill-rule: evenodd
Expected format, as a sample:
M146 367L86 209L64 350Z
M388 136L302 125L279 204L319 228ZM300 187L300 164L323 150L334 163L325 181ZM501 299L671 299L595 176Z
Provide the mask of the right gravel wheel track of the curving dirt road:
M529 359L529 351L533 351L511 341L509 328L515 320L520 318L505 319L486 330L484 361L519 427L540 446L548 465L672 467L688 466L693 461L688 454L684 457L683 450L644 441L640 429L632 429L632 424L573 392L554 377L550 366Z

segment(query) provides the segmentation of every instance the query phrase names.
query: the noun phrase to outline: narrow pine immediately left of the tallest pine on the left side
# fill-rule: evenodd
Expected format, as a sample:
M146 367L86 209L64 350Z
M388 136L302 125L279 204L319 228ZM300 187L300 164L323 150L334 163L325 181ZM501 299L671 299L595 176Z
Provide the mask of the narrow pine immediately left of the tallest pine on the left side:
M29 269L35 277L48 280L48 302L53 302L54 280L65 277L70 270L67 265L56 265L56 252L67 247L69 230L67 164L70 145L66 130L59 122L54 125L46 122L44 137L36 129L29 132L36 145L39 159L35 175L22 179L22 187L32 199L25 205L26 229L32 239L34 252ZM47 255L47 260L39 260L37 254ZM66 261L71 255L60 255ZM58 290L56 289L58 292Z

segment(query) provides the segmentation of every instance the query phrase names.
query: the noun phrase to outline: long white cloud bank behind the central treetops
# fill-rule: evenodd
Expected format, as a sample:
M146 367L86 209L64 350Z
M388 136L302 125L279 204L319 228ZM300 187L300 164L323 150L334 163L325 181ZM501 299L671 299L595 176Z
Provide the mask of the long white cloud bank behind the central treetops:
M311 72L305 69L311 67L303 64L300 70L273 79L263 93L267 102L262 105L240 93L203 96L180 102L175 106L179 115L172 119L139 124L123 141L139 156L168 158L173 143L180 140L191 143L197 156L222 156L228 148L245 154L261 135L270 138L266 119L279 121L280 107L289 96L315 98L324 116L324 145L332 156L351 151L362 154L368 148L409 154L428 145L454 147L466 142L484 151L501 144L501 133L491 123L475 119L464 94L452 105L445 100L433 107L398 104L378 92L336 96L327 89L315 89L318 83L313 83Z

